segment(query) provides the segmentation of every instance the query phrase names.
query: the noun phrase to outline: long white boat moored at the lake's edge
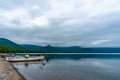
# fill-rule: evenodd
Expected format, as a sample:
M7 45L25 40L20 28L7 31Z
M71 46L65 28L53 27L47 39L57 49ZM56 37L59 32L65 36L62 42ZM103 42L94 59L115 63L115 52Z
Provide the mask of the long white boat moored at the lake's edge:
M28 62L28 61L41 61L44 60L45 56L40 57L30 57L30 58L12 58L12 57L6 57L6 60L9 62Z

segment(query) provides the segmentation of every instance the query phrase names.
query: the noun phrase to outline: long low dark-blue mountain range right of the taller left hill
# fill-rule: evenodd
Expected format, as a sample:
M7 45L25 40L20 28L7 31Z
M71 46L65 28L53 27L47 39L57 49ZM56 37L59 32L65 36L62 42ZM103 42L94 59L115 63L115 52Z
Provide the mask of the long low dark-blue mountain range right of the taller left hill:
M79 46L69 46L69 47L57 47L57 46L37 46L22 44L22 47L28 50L34 50L38 52L46 53L120 53L119 47L89 47L83 48Z

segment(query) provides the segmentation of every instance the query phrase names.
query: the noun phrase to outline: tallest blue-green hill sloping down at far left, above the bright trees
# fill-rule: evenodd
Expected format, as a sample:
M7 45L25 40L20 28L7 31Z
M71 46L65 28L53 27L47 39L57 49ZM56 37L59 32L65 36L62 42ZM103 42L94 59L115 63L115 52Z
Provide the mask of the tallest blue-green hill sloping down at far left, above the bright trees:
M12 49L12 50L23 50L24 49L20 45L5 38L0 38L0 47L5 47L5 48Z

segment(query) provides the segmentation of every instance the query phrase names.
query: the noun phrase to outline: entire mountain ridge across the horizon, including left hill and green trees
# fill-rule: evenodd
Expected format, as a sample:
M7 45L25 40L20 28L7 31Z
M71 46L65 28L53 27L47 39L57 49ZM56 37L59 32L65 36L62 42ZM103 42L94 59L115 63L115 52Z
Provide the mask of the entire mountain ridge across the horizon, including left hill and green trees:
M120 47L83 48L79 46L57 47L31 44L16 44L8 39L0 38L0 52L40 52L40 53L120 53Z

